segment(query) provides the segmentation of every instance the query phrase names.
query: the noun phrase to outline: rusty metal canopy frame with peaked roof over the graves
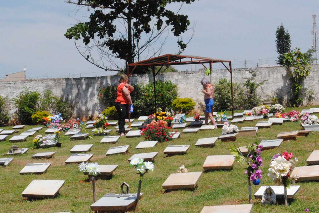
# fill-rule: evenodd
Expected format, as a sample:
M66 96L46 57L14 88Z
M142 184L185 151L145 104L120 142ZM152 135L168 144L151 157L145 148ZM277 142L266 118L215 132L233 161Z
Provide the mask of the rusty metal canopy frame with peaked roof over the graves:
M155 77L162 70L163 66L201 64L204 66L205 69L207 69L207 67L204 64L209 64L209 69L212 72L213 63L222 63L225 66L225 68L230 72L231 93L232 93L231 109L232 109L232 115L234 117L232 61L216 59L216 58L209 58L209 57L166 54L166 55L162 55L162 56L158 56L158 57L153 57L153 58L150 58L147 60L139 61L136 63L128 64L127 65L127 76L130 77L130 75L134 72L134 70L136 69L137 66L152 67L153 84L154 84L155 113L156 113L157 103L156 103ZM224 63L228 63L229 68ZM159 70L156 73L155 73L155 66L160 66ZM211 78L211 74L210 74L210 81L211 80L212 80L212 78ZM156 120L157 120L157 118L156 118ZM130 118L129 118L129 121L130 121ZM129 122L129 124L130 124L130 122Z

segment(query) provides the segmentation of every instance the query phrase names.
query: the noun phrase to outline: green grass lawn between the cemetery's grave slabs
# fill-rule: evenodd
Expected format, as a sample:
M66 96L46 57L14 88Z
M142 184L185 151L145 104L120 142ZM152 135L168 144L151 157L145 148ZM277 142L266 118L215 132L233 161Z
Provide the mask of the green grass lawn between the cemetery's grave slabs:
M314 106L316 107L316 106ZM317 106L318 107L318 106ZM304 107L309 108L309 107ZM293 110L287 108L285 112ZM302 110L302 108L298 108ZM230 115L230 113L228 113ZM265 121L266 119L261 119ZM259 120L258 120L259 121ZM238 124L239 129L243 126L255 126L257 120L253 122L246 121ZM26 126L23 132L34 126ZM110 127L113 129L114 127ZM11 129L5 127L4 129ZM137 130L137 128L134 128ZM276 139L279 132L288 132L293 130L301 130L299 122L285 122L283 125L274 125L271 128L259 128L256 137L237 137L234 142L237 146L245 146L251 142L260 142L263 139ZM37 134L45 134L43 128ZM89 132L90 130L88 130ZM116 135L115 131L111 131L109 135ZM34 135L34 136L35 136ZM64 161L71 155L70 149L76 144L93 144L90 152L94 156L91 162L99 164L118 164L118 169L114 171L113 177L106 180L96 181L97 199L106 193L120 193L120 185L123 181L130 184L130 192L136 193L139 176L135 169L129 167L128 159L133 154L144 152L155 152L159 154L155 158L155 169L153 172L146 174L143 179L142 193L144 198L139 203L139 211L145 213L198 213L204 206L211 205L232 205L248 203L248 184L244 174L245 167L237 162L234 163L233 169L230 171L208 171L203 172L198 186L194 191L178 190L165 192L162 189L162 183L167 179L169 174L176 173L179 166L185 165L189 172L204 171L203 163L208 155L229 155L229 143L216 141L213 148L198 148L195 143L199 138L218 137L221 135L221 129L199 131L196 133L181 133L180 138L173 141L158 143L153 148L135 149L140 141L144 138L125 138L121 137L116 144L101 144L100 140L103 136L93 136L93 139L70 141L70 136L62 136L62 148L32 149L33 138L28 137L24 142L11 143L7 137L6 141L0 142L0 157L8 157L4 154L8 152L12 145L30 148L26 154L14 156L14 160L4 168L0 168L0 212L32 212L32 213L53 213L72 211L78 213L92 212L90 205L93 203L92 183L84 181L87 179L82 172L79 171L77 164L66 165ZM312 132L308 137L297 137L296 141L284 141L281 147L275 149L264 150L262 152L263 179L261 186L274 185L267 176L269 163L274 154L284 151L293 152L298 157L299 162L296 166L306 166L306 159L310 153L319 149L319 132ZM163 150L168 144L175 145L191 145L187 154L166 157ZM129 152L126 155L106 156L109 147L130 145ZM56 155L52 159L32 159L31 156L38 152L56 151ZM20 175L19 171L27 163L51 162L48 171L41 175ZM43 199L36 201L24 200L21 196L22 191L29 185L33 179L57 179L65 180L64 186L60 190L60 194L54 199ZM262 206L260 200L253 200L253 212L303 212L308 208L311 212L318 212L319 184L316 181L296 183L300 185L300 191L296 194L295 199L290 201L289 206L283 204L274 206ZM258 190L259 186L252 186L253 194Z

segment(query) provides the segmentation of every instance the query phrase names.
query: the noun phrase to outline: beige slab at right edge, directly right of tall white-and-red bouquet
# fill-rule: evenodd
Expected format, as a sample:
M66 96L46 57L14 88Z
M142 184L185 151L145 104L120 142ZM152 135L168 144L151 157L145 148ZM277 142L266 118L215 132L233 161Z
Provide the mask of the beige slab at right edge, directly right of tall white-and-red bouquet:
M319 180L319 165L295 167L291 176L298 175L298 182Z

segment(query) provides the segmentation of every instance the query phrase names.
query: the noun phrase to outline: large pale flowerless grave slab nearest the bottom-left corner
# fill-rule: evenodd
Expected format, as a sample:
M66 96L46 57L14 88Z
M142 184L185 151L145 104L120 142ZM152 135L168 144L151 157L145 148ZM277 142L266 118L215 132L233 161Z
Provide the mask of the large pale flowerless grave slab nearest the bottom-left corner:
M64 180L33 180L22 192L28 199L54 198L64 184Z

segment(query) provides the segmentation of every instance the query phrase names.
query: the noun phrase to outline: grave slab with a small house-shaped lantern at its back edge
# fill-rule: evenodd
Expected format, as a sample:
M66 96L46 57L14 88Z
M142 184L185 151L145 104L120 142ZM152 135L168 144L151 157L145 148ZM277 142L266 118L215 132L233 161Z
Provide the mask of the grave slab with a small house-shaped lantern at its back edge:
M140 198L143 194L140 194ZM127 212L134 210L137 194L105 194L90 207L92 211L97 212Z

